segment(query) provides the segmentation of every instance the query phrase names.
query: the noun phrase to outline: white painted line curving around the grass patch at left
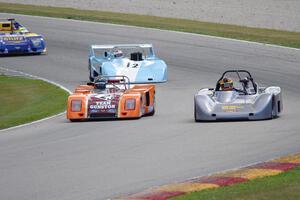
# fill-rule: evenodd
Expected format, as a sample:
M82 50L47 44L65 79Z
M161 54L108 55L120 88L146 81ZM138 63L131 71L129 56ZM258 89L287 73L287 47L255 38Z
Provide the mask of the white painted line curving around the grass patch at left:
M0 67L0 70L3 70L3 71L7 71L7 72L12 72L12 73L17 73L17 74L21 74L23 76L27 76L27 77L30 77L30 78L33 78L33 79L38 79L38 80L42 80L42 81L45 81L45 82L48 82L52 85L55 85L63 90L65 90L66 92L68 92L69 94L71 94L72 92L67 89L66 87L54 82L54 81L50 81L46 78L42 78L42 77L39 77L39 76L35 76L35 75L31 75L31 74L28 74L28 73L25 73L25 72L21 72L21 71L17 71L17 70L12 70L12 69L8 69L8 68L4 68L4 67ZM56 114L56 115L53 115L53 116L50 116L50 117L46 117L46 118L43 118L43 119L39 119L39 120L36 120L36 121L33 121L33 122L29 122L29 123L26 123L26 124L21 124L21 125L18 125L18 126L14 126L14 127L10 127L10 128L6 128L6 129L1 129L0 132L6 132L6 131L10 131L12 129L17 129L17 128L21 128L21 127L24 127L24 126L29 126L29 125L32 125L32 124L37 124L37 123L40 123L40 122L43 122L43 121L46 121L46 120L49 120L49 119L52 119L52 118L55 118L55 117L58 117L60 115L63 115L65 114L66 111L64 112L61 112L59 114Z

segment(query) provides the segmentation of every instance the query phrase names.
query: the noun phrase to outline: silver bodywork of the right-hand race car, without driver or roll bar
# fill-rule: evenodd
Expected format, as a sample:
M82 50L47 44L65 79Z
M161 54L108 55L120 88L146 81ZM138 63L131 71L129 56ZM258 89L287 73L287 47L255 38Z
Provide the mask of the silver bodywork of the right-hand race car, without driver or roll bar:
M201 89L194 97L195 121L272 119L282 112L280 87L259 87L256 84L255 89L248 89L247 93Z

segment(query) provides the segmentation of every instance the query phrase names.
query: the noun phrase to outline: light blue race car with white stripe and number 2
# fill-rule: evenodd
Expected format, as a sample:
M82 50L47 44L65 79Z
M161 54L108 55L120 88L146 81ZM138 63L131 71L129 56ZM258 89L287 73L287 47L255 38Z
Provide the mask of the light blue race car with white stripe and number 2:
M167 65L157 58L151 44L92 45L89 78L127 76L130 83L167 81Z

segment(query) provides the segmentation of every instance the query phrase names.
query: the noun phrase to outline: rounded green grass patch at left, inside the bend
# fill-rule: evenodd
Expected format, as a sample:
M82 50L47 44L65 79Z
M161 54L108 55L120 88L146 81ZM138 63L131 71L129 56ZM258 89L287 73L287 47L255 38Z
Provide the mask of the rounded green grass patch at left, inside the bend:
M0 75L0 129L65 110L68 93L41 80Z

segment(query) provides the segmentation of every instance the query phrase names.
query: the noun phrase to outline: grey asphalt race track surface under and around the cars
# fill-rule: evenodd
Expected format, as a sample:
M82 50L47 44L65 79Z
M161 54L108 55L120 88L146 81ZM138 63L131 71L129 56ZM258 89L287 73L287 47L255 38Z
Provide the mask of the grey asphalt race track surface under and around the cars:
M89 45L153 43L169 65L169 81L157 86L154 117L70 123L59 116L1 132L0 199L106 199L300 151L299 50L91 22L18 19L45 35L49 53L1 57L2 67L72 90L87 81ZM281 86L283 115L195 123L193 95L231 68Z

